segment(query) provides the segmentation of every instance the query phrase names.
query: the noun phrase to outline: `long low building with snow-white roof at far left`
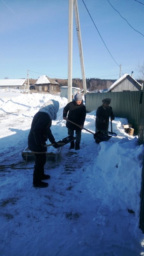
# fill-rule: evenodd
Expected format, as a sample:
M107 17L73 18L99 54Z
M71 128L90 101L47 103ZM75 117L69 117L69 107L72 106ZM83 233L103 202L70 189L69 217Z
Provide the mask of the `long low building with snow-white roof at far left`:
M0 89L25 89L26 79L0 79Z

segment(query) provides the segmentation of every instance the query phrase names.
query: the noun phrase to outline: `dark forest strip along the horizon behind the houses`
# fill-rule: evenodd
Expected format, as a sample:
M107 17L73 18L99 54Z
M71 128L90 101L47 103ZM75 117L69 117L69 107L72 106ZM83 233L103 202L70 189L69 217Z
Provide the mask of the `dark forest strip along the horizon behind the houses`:
M56 81L59 86L67 86L67 79L57 79L52 78L54 81ZM37 79L29 79L30 84L34 85L34 83L37 81ZM96 91L96 90L102 90L102 89L108 89L116 79L99 79L99 78L86 78L86 84L87 84L87 90L88 91ZM140 84L143 83L142 80L137 80ZM82 85L82 79L80 78L73 78L72 79L72 86L73 87L79 87L80 89L83 89Z

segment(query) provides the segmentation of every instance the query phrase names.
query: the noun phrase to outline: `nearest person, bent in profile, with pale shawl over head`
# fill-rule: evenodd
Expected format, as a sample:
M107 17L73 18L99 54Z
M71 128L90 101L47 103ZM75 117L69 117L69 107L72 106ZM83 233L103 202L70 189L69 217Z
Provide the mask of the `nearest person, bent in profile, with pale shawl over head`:
M39 109L34 115L31 129L28 135L28 148L34 152L35 165L33 173L33 186L45 188L49 184L42 180L50 179L50 175L44 174L44 165L46 163L46 141L49 139L57 148L57 142L50 130L52 120L57 119L57 111L59 109L59 102L56 100L49 100Z

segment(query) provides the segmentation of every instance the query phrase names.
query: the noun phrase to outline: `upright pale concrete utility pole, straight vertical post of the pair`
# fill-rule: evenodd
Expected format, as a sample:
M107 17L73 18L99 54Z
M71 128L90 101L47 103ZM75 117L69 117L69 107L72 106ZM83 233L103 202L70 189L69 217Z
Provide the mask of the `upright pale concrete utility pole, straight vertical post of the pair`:
M68 103L72 101L72 36L73 36L73 0L69 0Z

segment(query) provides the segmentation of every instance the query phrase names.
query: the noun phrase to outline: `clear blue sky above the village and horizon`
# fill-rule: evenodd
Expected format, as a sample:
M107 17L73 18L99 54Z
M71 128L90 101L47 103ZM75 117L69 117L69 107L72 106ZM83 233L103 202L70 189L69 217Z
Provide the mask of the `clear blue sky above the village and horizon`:
M144 0L109 0L144 35ZM122 73L139 78L144 62L144 36L131 28L108 0L84 0L104 43ZM82 0L78 0L86 77L118 79L119 66L110 56ZM68 0L0 0L0 79L68 76ZM73 12L74 14L74 12ZM72 77L81 78L73 17Z

